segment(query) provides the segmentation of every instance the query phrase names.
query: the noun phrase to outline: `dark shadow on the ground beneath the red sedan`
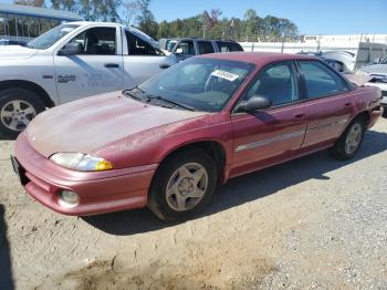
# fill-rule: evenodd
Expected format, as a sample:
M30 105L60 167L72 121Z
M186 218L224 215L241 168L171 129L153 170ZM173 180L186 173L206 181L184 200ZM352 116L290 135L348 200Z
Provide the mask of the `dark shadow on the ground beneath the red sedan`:
M325 174L356 163L387 149L387 134L367 132L363 146L355 158L337 162L330 157L326 151L315 153L295 160L254 172L229 180L219 188L211 205L197 218L255 200L278 193L308 179L328 180ZM90 225L111 235L133 235L160 228L171 227L178 222L158 220L147 209L136 209L85 217Z

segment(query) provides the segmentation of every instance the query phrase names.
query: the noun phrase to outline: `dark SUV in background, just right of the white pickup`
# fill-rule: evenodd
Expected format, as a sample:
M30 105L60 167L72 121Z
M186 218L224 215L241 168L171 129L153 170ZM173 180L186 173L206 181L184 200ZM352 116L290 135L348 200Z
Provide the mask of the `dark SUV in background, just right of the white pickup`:
M207 40L195 38L160 39L159 46L165 53L174 54L176 62L199 54L243 51L242 46L232 40Z

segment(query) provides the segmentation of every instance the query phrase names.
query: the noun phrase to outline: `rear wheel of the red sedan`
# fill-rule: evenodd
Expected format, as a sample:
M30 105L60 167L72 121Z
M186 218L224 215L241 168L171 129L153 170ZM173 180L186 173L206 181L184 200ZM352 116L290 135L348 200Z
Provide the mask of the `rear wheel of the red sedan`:
M336 141L336 144L330 148L331 155L338 160L348 160L354 157L360 148L365 130L364 118L355 118Z

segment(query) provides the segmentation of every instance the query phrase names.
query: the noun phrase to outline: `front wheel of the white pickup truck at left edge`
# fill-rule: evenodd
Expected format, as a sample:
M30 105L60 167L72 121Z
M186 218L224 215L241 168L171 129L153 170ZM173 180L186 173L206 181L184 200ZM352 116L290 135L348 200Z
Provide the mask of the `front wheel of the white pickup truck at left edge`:
M7 89L0 92L0 138L15 138L45 106L34 92Z

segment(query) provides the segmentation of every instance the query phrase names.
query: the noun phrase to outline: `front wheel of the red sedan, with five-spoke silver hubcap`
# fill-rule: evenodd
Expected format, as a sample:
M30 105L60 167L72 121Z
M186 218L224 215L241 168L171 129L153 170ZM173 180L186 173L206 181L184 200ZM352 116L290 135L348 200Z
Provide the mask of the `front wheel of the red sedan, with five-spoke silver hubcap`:
M148 208L164 220L187 219L211 200L217 176L216 165L206 152L179 152L157 170Z

